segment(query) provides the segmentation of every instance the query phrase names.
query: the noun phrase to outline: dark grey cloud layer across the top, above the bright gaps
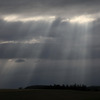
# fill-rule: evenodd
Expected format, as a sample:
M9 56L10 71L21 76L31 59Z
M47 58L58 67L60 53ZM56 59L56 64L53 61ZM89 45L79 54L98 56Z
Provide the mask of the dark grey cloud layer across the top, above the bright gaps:
M30 15L95 13L99 12L99 4L99 0L9 0L9 2L0 0L0 12L22 15L26 13L26 16L28 13Z

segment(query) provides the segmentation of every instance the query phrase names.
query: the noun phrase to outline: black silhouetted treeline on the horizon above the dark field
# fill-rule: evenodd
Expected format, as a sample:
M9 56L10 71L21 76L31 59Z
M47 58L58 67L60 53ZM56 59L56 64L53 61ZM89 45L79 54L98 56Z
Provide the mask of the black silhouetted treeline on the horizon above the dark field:
M100 91L100 86L89 86L86 85L33 85L28 86L25 89L63 89L63 90L82 90L82 91Z

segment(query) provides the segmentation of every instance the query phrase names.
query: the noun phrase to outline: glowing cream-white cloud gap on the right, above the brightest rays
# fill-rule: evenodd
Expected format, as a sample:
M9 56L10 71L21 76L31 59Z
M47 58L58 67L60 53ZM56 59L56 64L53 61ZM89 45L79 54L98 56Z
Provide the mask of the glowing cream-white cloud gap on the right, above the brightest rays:
M76 16L70 19L64 19L63 22L85 24L85 23L93 22L95 20L96 19L92 18L90 15L82 15L82 16Z

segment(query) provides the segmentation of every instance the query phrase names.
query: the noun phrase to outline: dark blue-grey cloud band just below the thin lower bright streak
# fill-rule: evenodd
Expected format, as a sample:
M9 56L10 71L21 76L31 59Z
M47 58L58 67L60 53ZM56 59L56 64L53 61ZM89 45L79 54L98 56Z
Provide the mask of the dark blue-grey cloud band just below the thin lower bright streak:
M0 58L35 58L52 60L99 59L100 49L85 47L63 47L62 44L5 44L0 45ZM87 50L84 53L84 50ZM19 61L19 60L18 60Z

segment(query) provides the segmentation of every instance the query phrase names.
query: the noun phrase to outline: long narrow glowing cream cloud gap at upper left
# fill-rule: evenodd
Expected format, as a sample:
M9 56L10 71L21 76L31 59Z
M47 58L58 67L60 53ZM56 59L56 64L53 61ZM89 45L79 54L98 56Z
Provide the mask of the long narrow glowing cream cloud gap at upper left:
M35 17L22 18L17 15L9 15L9 16L4 16L3 20L7 22L17 22L17 21L28 22L28 21L42 21L42 20L51 22L55 20L55 18L56 18L55 16L35 16Z

